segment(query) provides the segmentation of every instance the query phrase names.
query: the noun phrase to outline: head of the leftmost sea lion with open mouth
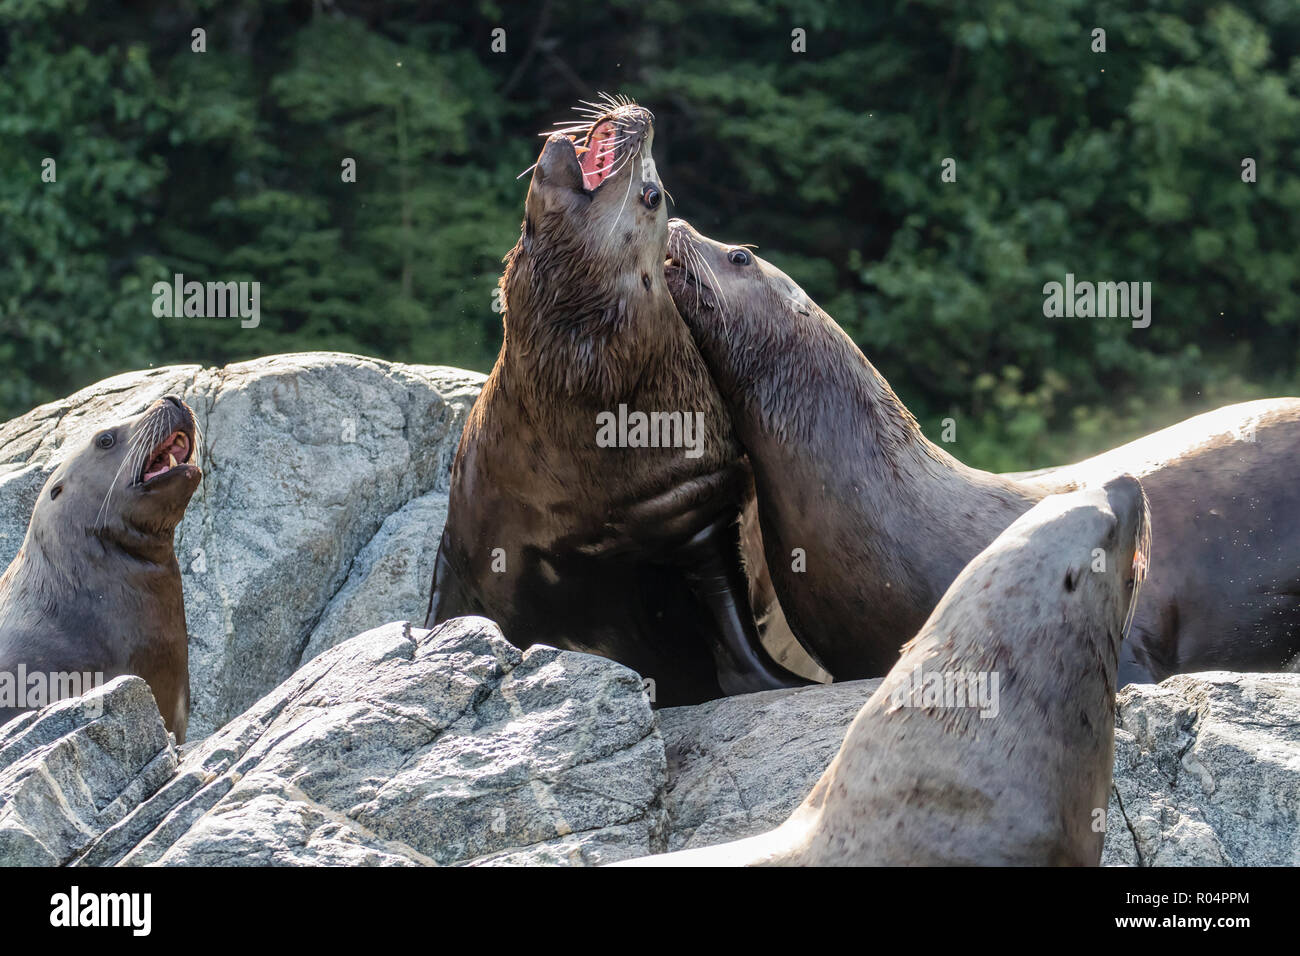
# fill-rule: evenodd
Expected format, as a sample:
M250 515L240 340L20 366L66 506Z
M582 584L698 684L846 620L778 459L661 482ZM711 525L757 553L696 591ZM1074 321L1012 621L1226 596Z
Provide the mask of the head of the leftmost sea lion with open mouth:
M194 411L174 395L98 429L46 481L31 515L43 548L98 538L146 561L170 555L203 471Z

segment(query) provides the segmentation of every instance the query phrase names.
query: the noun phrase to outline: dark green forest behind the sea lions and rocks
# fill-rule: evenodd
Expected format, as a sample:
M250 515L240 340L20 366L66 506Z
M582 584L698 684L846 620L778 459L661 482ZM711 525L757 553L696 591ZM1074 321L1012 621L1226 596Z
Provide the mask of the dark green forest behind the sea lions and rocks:
M516 177L599 91L655 112L672 215L757 243L972 464L1300 378L1295 0L0 0L0 419L281 351L486 371ZM260 282L260 325L156 317L174 273ZM1066 273L1150 282L1149 328L1045 316Z

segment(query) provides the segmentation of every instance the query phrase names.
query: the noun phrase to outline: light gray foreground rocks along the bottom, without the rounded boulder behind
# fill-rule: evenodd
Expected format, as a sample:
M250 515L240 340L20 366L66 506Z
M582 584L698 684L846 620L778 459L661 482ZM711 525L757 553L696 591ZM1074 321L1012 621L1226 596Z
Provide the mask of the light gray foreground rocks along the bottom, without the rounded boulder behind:
M0 732L0 864L589 865L779 825L876 682L654 714L589 654L406 623L322 652L177 763L121 678ZM1300 675L1126 688L1104 862L1300 862Z

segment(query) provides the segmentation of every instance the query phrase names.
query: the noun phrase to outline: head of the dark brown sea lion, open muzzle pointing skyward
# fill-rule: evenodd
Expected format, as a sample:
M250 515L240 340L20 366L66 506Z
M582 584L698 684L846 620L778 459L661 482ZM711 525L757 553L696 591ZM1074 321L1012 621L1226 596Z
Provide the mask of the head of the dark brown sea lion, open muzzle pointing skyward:
M612 96L578 112L581 122L547 135L508 260L528 259L534 273L572 273L585 286L623 276L658 281L668 220L651 156L654 114Z

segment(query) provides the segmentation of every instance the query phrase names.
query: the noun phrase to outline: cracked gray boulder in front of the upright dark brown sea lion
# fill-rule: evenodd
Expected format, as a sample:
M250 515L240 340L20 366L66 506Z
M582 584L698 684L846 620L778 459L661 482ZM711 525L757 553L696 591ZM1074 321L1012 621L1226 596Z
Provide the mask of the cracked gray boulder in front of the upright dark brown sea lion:
M482 618L326 650L209 736L82 865L595 864L662 849L641 679Z

